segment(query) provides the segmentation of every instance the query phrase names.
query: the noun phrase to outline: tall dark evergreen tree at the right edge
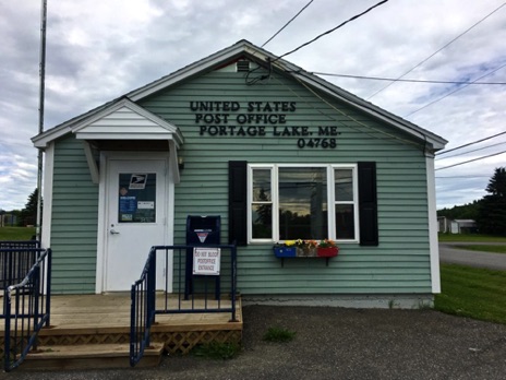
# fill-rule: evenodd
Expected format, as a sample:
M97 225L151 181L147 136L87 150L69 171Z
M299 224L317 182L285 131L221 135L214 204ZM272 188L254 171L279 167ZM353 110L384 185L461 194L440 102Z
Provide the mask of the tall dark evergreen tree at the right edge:
M477 218L483 234L506 236L506 169L495 169L483 197Z

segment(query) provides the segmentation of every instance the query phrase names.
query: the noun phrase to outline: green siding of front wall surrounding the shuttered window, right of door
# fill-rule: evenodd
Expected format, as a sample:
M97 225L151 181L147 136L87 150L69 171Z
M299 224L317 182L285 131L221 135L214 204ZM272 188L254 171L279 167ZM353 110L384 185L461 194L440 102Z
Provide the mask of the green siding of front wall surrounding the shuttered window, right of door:
M234 100L241 106L246 102L296 102L294 112L282 112L287 115L286 126L309 126L312 130L336 126L340 133L335 136L337 147L298 149L298 138L275 136L269 124L265 136L200 135L190 102L206 100ZM184 169L176 186L174 244L184 244L186 215L192 214L221 215L221 241L228 241L229 161L376 162L378 247L341 244L339 256L330 259L328 266L324 259L285 259L282 268L272 245L240 247L238 288L242 294L432 293L422 141L345 104L318 97L276 73L266 83L246 85L243 73L215 71L155 94L140 105L172 122L184 136L179 152ZM228 124L238 126L234 118ZM227 278L228 272L222 273Z

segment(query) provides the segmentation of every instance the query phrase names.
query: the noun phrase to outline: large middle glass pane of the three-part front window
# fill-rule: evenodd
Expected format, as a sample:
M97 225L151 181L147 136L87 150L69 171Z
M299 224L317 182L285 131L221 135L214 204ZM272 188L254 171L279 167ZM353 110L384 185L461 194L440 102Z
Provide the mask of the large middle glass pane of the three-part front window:
M327 175L324 167L279 168L279 239L327 237Z

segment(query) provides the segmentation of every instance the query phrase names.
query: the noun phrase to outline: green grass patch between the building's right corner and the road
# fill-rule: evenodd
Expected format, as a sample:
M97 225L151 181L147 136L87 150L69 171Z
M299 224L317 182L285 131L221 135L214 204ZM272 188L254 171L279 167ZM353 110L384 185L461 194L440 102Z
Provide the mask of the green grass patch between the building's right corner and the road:
M506 271L456 264L441 265L442 294L436 310L461 317L506 323Z

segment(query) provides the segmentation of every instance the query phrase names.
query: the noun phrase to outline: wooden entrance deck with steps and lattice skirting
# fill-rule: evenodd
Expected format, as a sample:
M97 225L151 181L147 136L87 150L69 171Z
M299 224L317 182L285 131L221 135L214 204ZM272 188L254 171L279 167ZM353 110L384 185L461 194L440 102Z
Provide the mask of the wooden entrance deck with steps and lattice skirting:
M191 307L192 301L169 299L169 308ZM157 309L165 296L157 296ZM195 299L194 308L216 308L216 300ZM230 307L222 299L222 308ZM230 312L157 314L152 326L152 346L138 366L156 366L164 352L188 354L195 345L236 342L242 339L241 301L236 301L237 321ZM0 326L3 352L3 324ZM51 297L51 326L38 335L38 347L21 368L95 368L130 366L130 294Z

